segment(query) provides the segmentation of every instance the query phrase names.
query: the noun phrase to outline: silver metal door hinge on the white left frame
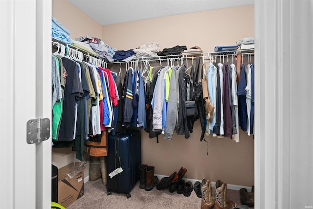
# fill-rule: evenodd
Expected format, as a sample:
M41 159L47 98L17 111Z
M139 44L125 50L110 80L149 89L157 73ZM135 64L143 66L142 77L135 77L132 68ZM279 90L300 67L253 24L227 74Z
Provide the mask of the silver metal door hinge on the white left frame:
M27 143L39 143L45 141L50 137L50 119L36 118L30 119L26 124L26 140Z

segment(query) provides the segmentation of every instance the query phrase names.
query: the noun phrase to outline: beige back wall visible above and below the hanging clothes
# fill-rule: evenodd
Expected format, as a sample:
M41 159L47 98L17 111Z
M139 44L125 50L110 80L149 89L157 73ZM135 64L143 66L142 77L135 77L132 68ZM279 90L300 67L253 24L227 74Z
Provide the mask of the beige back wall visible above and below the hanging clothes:
M176 45L200 46L203 52L214 46L235 45L244 37L254 36L254 5L232 7L164 18L102 26L102 40L118 50L157 42L161 49ZM156 64L156 63L154 63ZM119 69L119 65L114 66ZM189 139L174 134L172 140L149 139L142 131L142 163L154 165L156 174L170 175L181 166L190 179L220 179L228 184L252 186L254 182L254 139L240 131L240 142L206 136L200 142L200 120L195 122Z

